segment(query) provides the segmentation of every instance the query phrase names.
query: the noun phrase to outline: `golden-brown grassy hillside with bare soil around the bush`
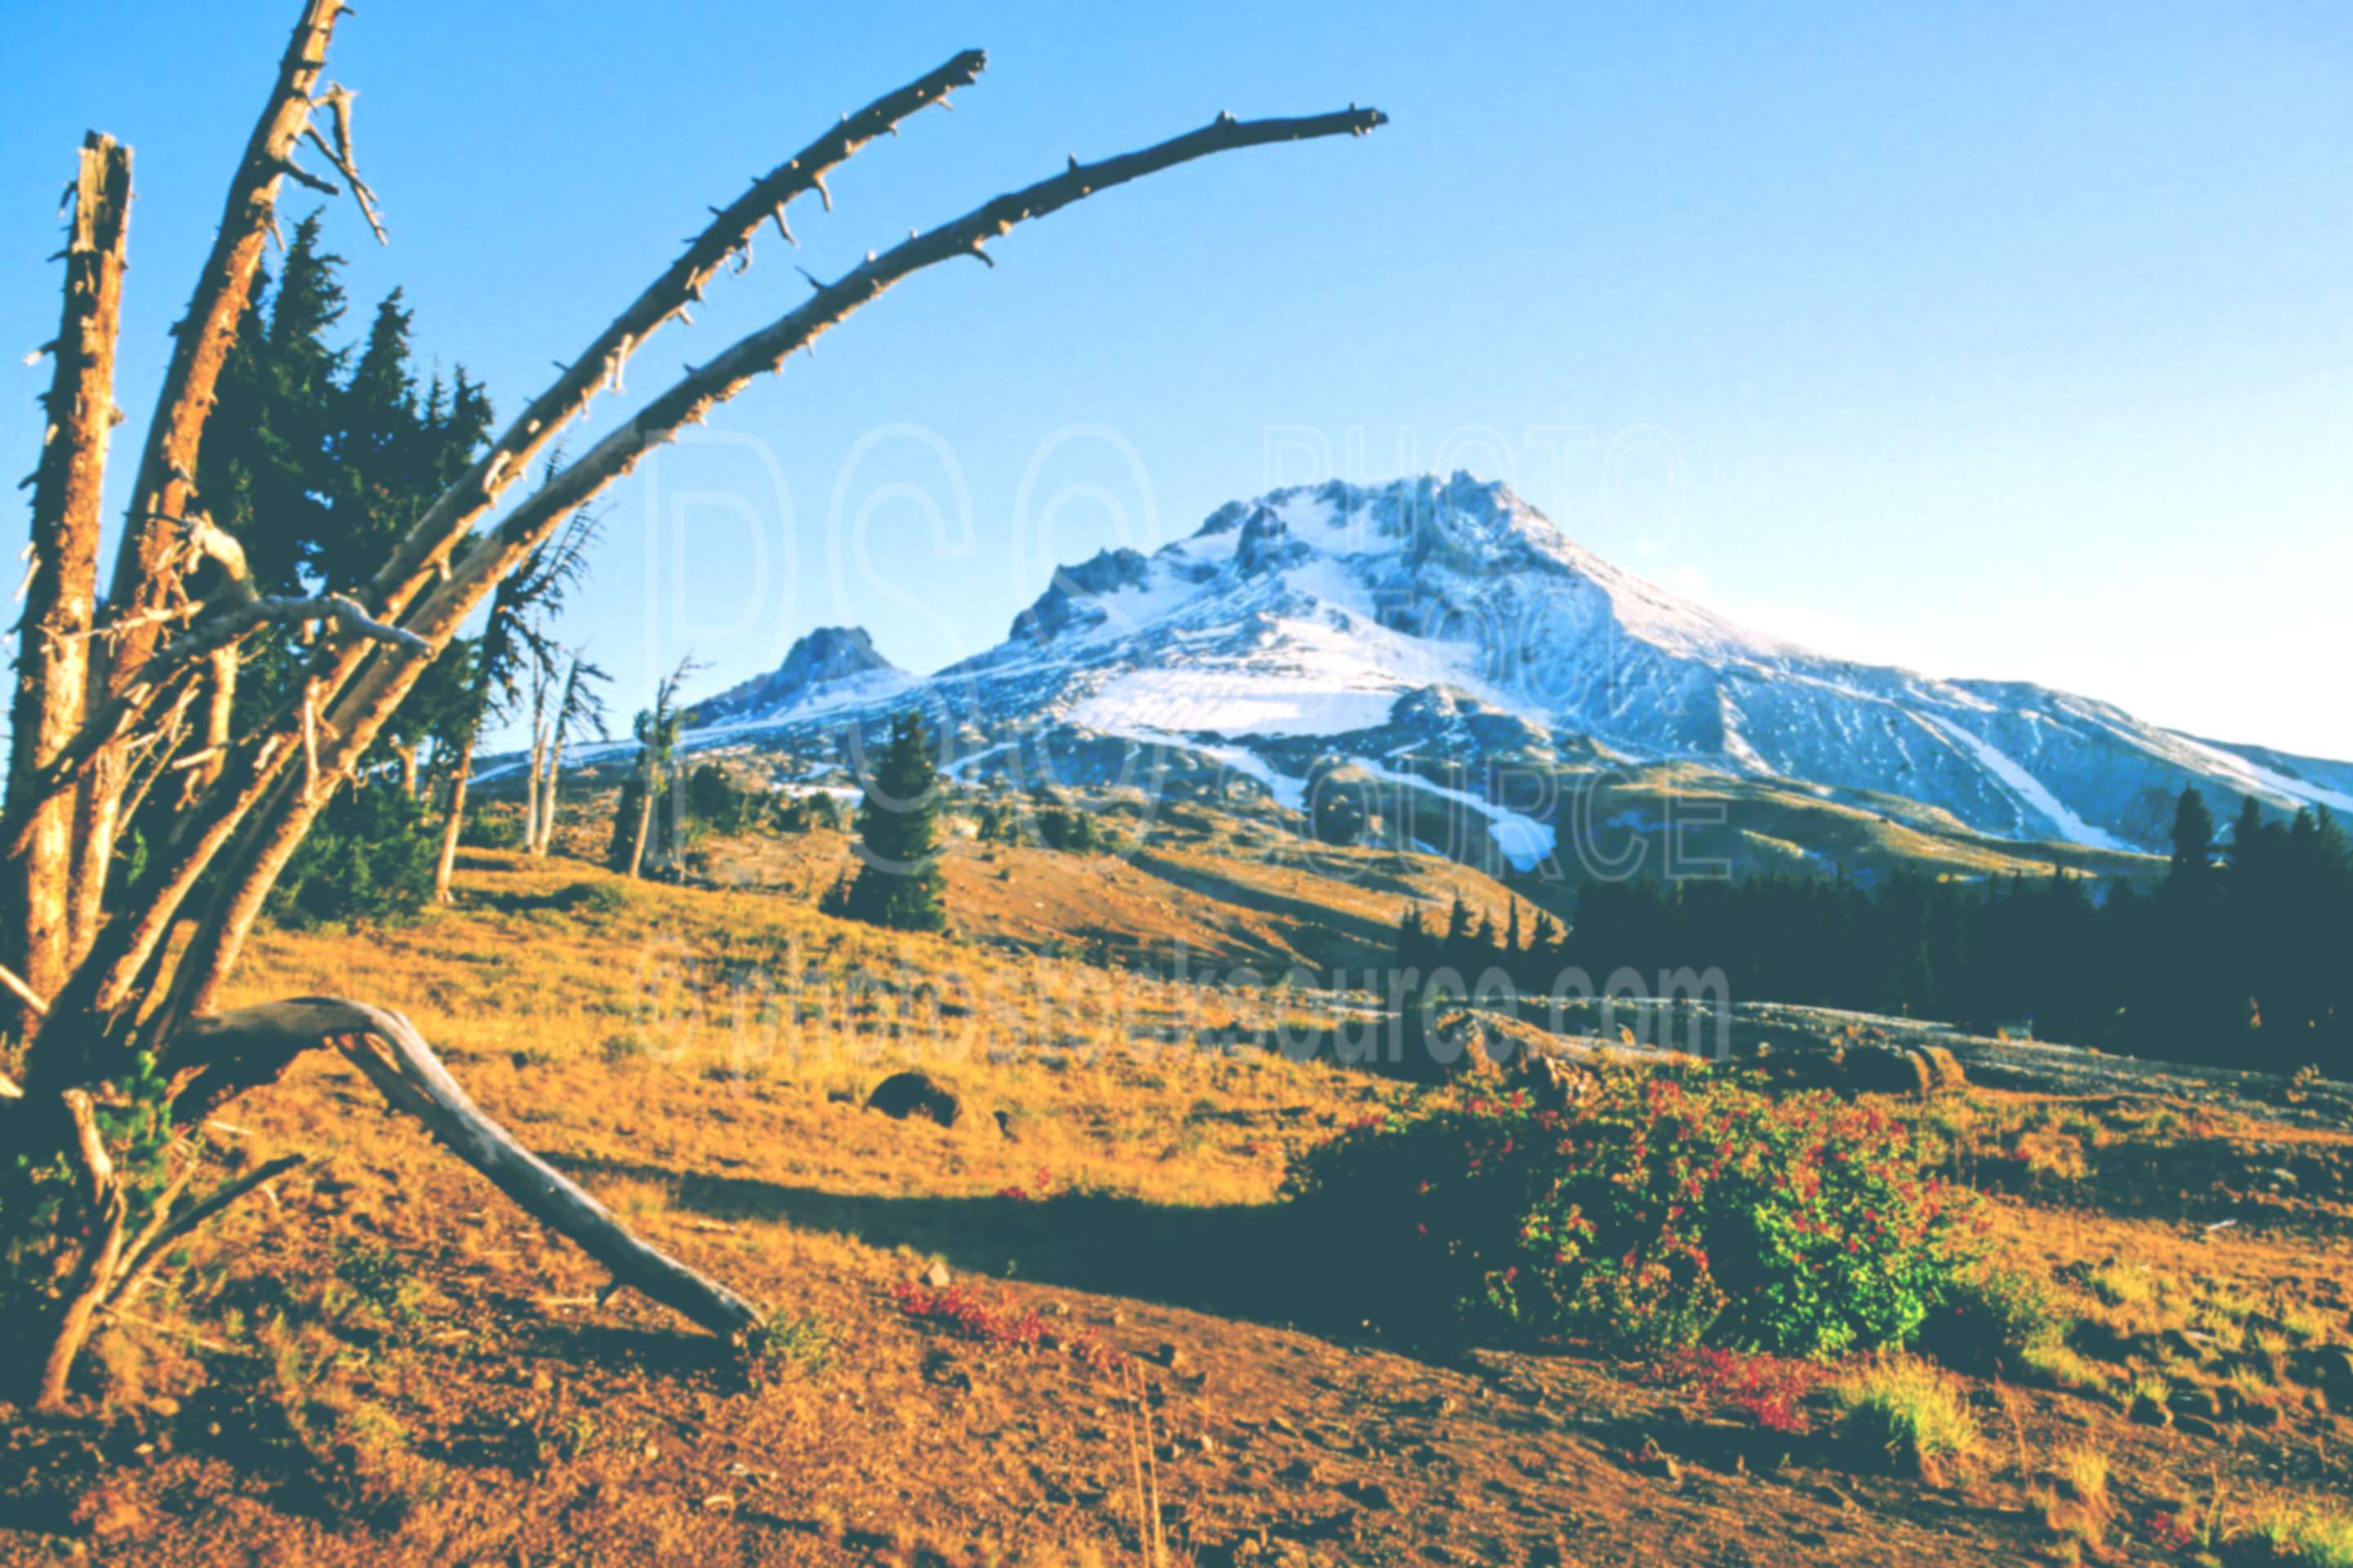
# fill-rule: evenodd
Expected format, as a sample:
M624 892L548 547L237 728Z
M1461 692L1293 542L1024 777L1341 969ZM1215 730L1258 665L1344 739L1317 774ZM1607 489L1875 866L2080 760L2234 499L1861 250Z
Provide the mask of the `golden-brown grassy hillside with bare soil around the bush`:
M1141 1495L1195 1563L2186 1561L2158 1516L2238 1559L2353 1481L2353 1135L2162 1081L1889 1103L1937 1119L2002 1253L2080 1314L2068 1361L1965 1380L1984 1436L1946 1472L1857 1450L1824 1394L1784 1434L1640 1361L1393 1340L1294 1262L1278 1194L1306 1150L1452 1091L1214 1048L1313 1037L1315 992L1080 954L1122 929L1344 952L1407 889L1485 889L1367 851L1304 893L1245 832L1160 870L958 846L955 940L814 914L833 835L713 846L734 889L466 851L459 905L419 926L268 936L233 1001L398 999L532 1147L779 1307L784 1352L746 1382L600 1300L581 1255L306 1060L214 1138L308 1164L101 1335L111 1415L7 1427L0 1559L1115 1563L1148 1561ZM1325 886L1355 903L1318 938ZM969 1114L864 1110L904 1065ZM911 1293L934 1265L953 1321ZM2064 1479L2082 1453L2097 1500Z

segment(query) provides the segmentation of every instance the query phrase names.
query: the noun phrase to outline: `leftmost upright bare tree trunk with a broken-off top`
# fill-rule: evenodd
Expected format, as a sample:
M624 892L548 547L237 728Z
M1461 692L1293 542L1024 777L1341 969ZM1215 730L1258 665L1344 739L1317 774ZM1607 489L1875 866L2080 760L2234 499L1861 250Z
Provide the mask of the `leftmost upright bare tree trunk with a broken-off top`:
M49 353L47 435L33 473L33 567L24 585L21 654L9 705L9 806L31 804L33 769L82 726L89 623L99 590L99 491L115 428L115 336L122 327L122 249L132 150L92 132L73 183L66 308ZM71 971L73 797L38 804L33 842L0 870L0 966L54 997ZM0 1006L0 1032L33 1037L38 1013Z

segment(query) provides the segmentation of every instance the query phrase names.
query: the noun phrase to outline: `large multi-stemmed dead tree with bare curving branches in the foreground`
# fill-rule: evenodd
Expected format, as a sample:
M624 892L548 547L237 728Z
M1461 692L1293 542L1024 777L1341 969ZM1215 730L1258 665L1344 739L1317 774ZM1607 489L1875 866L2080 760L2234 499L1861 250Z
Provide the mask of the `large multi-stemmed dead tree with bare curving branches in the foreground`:
M96 477L113 421L106 386L115 336L111 299L120 292L120 214L127 200L120 148L94 146L75 186L68 334L56 346L56 386L71 393L52 393L52 435L40 475L54 468L56 477L38 482L35 491L33 574L35 583L47 583L47 599L40 623L26 628L16 693L19 710L40 722L14 729L0 809L0 846L12 860L24 858L24 875L38 875L42 889L38 910L26 905L21 917L5 912L21 924L7 936L7 952L19 957L19 966L5 973L5 983L38 1027L24 1051L21 1093L0 1098L0 1145L56 1152L78 1173L78 1204L54 1234L66 1288L61 1309L45 1326L40 1354L38 1394L47 1403L64 1399L96 1307L118 1298L153 1258L151 1237L125 1234L120 1182L92 1117L94 1105L120 1100L139 1060L158 1065L165 1088L155 1093L172 1126L198 1128L212 1110L273 1081L304 1051L334 1046L395 1107L416 1114L452 1152L605 1262L619 1286L638 1288L715 1333L739 1335L755 1326L751 1302L645 1246L572 1182L522 1152L456 1088L398 1013L360 1001L304 999L216 1016L221 985L266 896L320 809L355 778L386 722L466 618L567 517L682 425L708 416L755 376L784 369L795 350L809 348L819 334L908 275L955 256L993 266L986 247L1016 223L1209 153L1365 134L1384 122L1369 108L1301 120L1219 115L1202 129L1136 153L1092 165L1073 158L1033 186L868 254L831 282L812 280L798 306L659 390L579 461L546 475L504 517L480 527L593 397L621 393L624 364L654 331L682 317L722 270L751 266L753 237L765 223L791 242L791 202L814 193L831 209L828 174L875 136L896 134L915 110L946 103L955 87L981 73L979 52L958 54L842 115L713 209L685 252L562 362L482 458L426 508L365 588L264 597L245 576L235 541L207 520L191 475L198 473L238 313L275 228L282 181L329 193L348 188L379 240L384 233L374 193L353 160L351 94L320 89L327 42L341 14L341 0L304 2L231 179L219 237L174 331L104 609L94 599L94 569L80 562L94 550ZM304 167L299 148L320 158L341 186ZM216 722L228 712L221 691L233 684L238 654L273 625L313 628L299 693L231 733ZM92 661L87 675L68 644ZM179 837L148 867L136 900L111 903L106 879L127 804L153 778L184 771L198 778L184 799ZM61 813L71 823L64 872ZM64 893L56 891L61 879ZM169 940L179 931L186 940ZM31 976L45 983L35 985ZM167 1190L155 1194L151 1225L179 1234L238 1197L233 1185L184 1206L179 1199L193 1168L193 1157L186 1157ZM5 1213L26 1211L12 1201Z

